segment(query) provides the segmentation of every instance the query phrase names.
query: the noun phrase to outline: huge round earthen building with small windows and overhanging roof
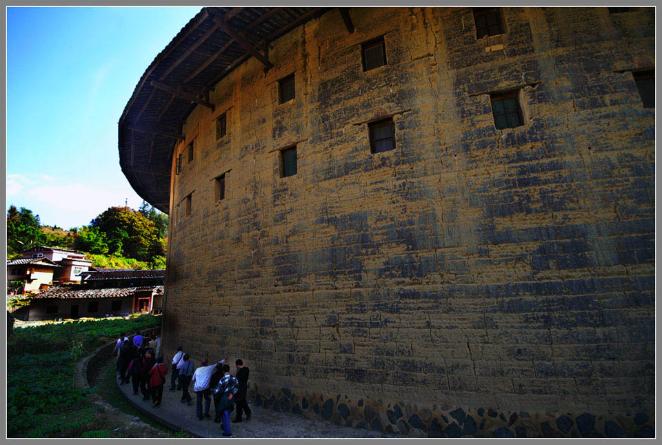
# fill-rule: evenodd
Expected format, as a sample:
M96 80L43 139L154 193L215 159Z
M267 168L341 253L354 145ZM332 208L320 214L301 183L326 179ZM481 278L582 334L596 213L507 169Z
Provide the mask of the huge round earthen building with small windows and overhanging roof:
M654 8L203 8L119 121L163 346L425 437L654 436Z

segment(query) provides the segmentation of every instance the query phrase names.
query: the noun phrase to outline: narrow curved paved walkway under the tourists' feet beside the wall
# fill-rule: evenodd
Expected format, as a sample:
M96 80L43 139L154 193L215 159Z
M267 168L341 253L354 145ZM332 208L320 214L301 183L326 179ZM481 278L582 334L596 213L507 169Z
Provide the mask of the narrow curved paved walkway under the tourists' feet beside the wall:
M163 401L161 406L152 407L152 402L143 402L142 395L133 395L131 384L119 385L118 387L134 406L137 406L148 415L154 415L165 421L165 424L178 426L192 435L199 437L223 437L221 424L214 424L214 399L210 408L211 419L205 418L199 420L195 417L195 394L191 391L193 397L192 406L187 406L179 402L181 391L170 391L170 375L163 391ZM274 410L249 406L252 410L250 422L230 424L232 427L232 437L309 437L309 438L334 438L334 437L403 437L399 435L390 435L379 433L377 431L366 431L360 428L351 428L348 426L339 426L324 422L323 420L311 420L298 415L279 413ZM234 412L230 413L230 420L234 419Z

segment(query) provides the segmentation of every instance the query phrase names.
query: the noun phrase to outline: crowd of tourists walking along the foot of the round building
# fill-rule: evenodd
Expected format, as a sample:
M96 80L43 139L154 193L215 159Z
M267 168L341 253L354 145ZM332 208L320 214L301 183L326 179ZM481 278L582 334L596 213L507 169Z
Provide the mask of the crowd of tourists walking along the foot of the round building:
M121 337L115 344L114 352L117 353L117 372L121 378L121 384L133 384L133 395L143 395L143 401L152 399L152 406L161 405L163 398L163 386L165 375L168 374L168 366L163 364L160 337L143 337L136 333L132 339ZM156 357L156 358L155 358ZM196 415L198 419L211 418L210 406L212 396L214 397L214 422L221 423L223 435L230 436L230 411L237 408L237 413L232 423L242 421L243 413L246 420L250 420L250 408L246 402L248 390L248 367L243 366L243 361L237 359L234 362L237 370L230 372L230 366L225 364L228 357L220 362L209 364L204 359L201 366L195 368L192 359L183 348L179 346L177 353L172 357L170 374L170 390L181 390L181 403L188 406L193 404L189 393L190 384L193 383L193 392L196 395ZM203 399L205 401L203 411Z

